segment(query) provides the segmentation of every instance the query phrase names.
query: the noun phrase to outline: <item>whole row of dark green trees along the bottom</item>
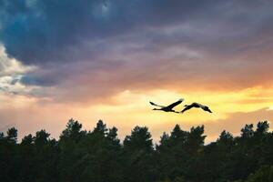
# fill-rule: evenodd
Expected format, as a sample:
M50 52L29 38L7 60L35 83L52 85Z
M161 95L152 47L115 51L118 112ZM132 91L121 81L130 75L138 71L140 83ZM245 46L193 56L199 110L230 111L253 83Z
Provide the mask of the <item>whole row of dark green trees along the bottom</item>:
M59 140L45 130L17 142L13 127L0 133L2 182L272 182L273 134L268 122L246 125L240 136L223 131L204 145L204 126L175 126L153 145L147 127L123 142L116 127L93 131L71 119Z

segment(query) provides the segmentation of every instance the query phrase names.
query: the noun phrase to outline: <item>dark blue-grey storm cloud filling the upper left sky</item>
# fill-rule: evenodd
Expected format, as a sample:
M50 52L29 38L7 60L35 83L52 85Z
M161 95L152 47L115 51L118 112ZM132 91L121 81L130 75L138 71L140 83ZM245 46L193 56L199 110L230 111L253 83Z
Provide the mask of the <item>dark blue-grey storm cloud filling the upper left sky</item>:
M183 20L200 6L197 1L2 1L1 40L9 55L26 64L69 61L67 52L85 41Z

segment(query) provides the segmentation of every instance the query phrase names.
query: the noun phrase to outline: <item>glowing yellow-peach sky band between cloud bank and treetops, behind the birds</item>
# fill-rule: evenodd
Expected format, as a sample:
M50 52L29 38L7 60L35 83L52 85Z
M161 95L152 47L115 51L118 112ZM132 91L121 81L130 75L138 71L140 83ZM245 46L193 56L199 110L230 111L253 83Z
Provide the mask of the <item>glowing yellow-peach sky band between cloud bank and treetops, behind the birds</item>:
M212 114L201 109L191 109L184 114L153 111L148 101L159 105L168 105L179 98L185 101L175 107L180 111L183 105L199 102L207 105ZM66 122L73 117L79 120L84 129L92 130L98 119L108 127L116 126L122 139L129 135L134 126L148 126L155 142L163 132L170 133L178 124L188 130L191 126L205 125L206 142L213 141L219 133L227 129L238 135L240 128L258 120L273 119L273 94L270 88L253 87L241 91L176 91L176 90L125 90L104 102L86 105L75 103L56 103L38 100L30 96L1 96L0 114L6 123L1 130L15 126L19 129L19 138L28 133L45 128L53 137L58 137ZM13 111L13 115L9 114Z

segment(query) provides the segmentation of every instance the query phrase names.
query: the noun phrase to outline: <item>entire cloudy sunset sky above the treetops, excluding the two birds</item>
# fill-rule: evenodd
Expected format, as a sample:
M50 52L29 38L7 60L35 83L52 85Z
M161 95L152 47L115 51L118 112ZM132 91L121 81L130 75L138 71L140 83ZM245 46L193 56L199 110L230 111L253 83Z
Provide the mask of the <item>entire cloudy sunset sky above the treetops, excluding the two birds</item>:
M58 137L68 119L118 136L178 124L226 129L273 120L270 0L0 0L0 131ZM183 115L149 101L207 105ZM271 127L273 128L273 127Z

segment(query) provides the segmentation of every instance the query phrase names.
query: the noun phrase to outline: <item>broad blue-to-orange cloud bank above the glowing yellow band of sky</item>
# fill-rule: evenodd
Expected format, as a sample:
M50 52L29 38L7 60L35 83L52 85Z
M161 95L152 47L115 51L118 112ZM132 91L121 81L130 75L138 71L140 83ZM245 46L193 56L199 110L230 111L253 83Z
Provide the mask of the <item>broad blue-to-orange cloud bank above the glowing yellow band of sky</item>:
M128 88L270 86L271 5L2 1L0 40L8 56L35 66L20 83L43 87L33 95L58 101L106 98Z

